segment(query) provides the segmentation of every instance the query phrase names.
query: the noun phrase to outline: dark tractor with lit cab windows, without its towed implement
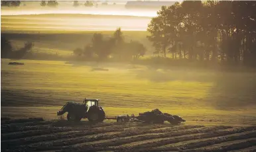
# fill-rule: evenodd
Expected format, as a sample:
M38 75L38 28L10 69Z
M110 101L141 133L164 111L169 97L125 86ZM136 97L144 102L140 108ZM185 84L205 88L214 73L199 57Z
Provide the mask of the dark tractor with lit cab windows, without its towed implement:
M98 99L84 98L82 104L76 102L67 102L60 111L57 112L57 116L68 112L68 121L80 122L82 118L87 118L90 122L103 122L105 120L105 112L101 106L99 106Z

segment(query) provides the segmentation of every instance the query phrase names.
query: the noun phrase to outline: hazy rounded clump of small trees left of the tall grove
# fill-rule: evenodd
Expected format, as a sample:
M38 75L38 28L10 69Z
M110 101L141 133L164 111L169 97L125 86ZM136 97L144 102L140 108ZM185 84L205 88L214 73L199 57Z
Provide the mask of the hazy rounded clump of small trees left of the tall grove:
M118 61L127 61L144 56L146 51L145 46L141 42L135 40L125 42L125 36L121 28L117 28L109 38L104 38L101 33L94 33L91 42L86 44L84 49L76 48L73 53L85 59L99 59L103 61L111 57Z

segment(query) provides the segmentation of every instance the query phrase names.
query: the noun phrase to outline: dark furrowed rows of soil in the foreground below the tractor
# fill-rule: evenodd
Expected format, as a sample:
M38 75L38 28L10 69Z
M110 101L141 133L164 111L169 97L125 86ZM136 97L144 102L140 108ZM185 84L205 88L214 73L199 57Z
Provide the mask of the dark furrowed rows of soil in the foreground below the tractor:
M1 124L2 132L5 132L1 135L1 145L2 149L9 151L246 151L255 150L256 142L254 127L135 123L93 125L38 120L5 123Z

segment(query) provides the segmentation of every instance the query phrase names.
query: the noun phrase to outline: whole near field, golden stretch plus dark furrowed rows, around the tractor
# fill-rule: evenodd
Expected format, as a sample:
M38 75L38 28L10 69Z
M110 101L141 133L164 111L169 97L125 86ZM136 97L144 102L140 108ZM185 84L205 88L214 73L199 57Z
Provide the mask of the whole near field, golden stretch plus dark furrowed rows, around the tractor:
M25 59L19 60L25 65L8 65L9 61L1 59L3 151L255 150L255 73ZM94 67L109 71L93 71ZM67 101L82 102L84 97L99 98L108 116L159 108L186 122L171 126L58 121L56 112ZM35 117L44 121L25 119Z

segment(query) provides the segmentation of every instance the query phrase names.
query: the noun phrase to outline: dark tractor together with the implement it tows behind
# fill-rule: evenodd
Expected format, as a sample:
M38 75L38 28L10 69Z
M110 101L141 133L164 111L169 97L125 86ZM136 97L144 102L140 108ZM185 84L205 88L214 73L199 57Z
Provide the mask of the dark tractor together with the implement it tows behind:
M105 116L102 106L99 106L98 99L84 98L83 103L67 102L58 112L57 116L62 116L68 112L67 120L72 122L80 122L82 118L88 119L90 122L103 122L104 120L116 120L117 122L145 122L148 124L163 124L169 122L170 124L181 124L186 122L180 116L168 113L162 113L158 108L139 113L138 116L134 114L120 115L120 116Z

